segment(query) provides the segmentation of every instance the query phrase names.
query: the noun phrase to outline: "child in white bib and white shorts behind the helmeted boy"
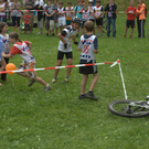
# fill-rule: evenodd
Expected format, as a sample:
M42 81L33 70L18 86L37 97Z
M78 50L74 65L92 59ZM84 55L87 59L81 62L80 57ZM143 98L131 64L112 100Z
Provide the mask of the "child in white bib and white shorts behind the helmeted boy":
M60 26L60 32L65 28L66 25L66 18L65 18L65 8L63 7L63 1L58 2L58 8L57 8L57 15L58 15L58 26Z

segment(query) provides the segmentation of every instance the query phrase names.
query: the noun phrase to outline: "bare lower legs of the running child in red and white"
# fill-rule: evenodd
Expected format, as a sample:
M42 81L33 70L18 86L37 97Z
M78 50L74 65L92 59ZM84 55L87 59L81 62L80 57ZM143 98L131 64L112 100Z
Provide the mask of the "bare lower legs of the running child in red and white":
M42 78L40 78L40 77L38 77L38 76L31 77L29 74L23 73L23 72L22 72L22 73L17 73L17 74L19 74L19 75L21 75L21 76L24 76L24 77L26 77L26 78L33 79L33 81L35 81L35 82L42 84L43 86L46 86L46 85L47 85Z

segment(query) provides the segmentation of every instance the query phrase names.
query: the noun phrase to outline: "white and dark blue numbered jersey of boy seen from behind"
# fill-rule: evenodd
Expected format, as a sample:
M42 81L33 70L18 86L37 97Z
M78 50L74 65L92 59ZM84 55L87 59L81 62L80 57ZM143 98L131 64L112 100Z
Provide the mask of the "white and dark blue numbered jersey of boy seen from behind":
M86 60L87 62L95 60L94 50L98 49L97 36L93 34L82 35L77 47L82 49L81 60Z

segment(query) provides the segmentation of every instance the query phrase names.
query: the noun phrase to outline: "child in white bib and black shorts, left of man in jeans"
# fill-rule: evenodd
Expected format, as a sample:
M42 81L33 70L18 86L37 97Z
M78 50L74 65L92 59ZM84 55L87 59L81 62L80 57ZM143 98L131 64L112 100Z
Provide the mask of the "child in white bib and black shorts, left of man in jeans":
M100 6L100 0L96 0L96 6L94 7L94 15L96 18L96 25L97 25L97 36L99 36L99 30L100 30L100 36L103 38L103 11L104 8Z

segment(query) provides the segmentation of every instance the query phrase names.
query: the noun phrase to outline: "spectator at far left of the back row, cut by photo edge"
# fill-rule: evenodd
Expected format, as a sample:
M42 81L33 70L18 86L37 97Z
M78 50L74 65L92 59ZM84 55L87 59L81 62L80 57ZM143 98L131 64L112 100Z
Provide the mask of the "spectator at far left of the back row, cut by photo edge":
M6 3L3 0L0 0L0 22L6 22Z

